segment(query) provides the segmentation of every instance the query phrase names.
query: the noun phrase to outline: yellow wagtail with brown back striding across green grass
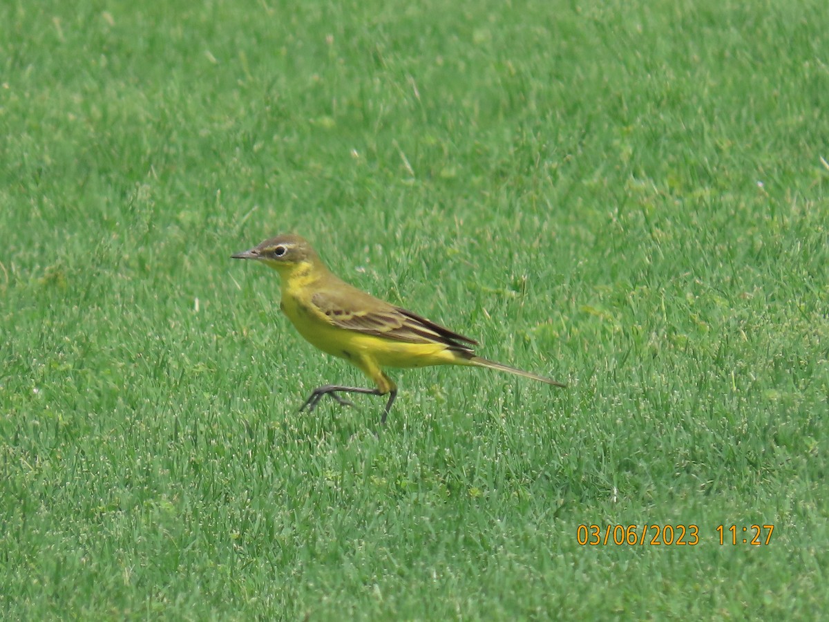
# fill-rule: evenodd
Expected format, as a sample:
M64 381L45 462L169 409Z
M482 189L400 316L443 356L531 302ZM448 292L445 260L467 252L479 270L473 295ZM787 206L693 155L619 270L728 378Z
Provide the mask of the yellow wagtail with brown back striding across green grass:
M397 385L385 375L383 367L473 365L565 386L550 378L476 357L472 346L478 342L474 339L352 287L332 275L300 236L277 236L231 256L258 260L279 272L282 279L279 308L299 334L323 352L345 358L376 385L374 389L320 386L308 396L300 411L306 406L309 412L313 411L325 395L332 396L339 404L353 406L337 392L388 395L381 419L381 424L385 424L397 396Z

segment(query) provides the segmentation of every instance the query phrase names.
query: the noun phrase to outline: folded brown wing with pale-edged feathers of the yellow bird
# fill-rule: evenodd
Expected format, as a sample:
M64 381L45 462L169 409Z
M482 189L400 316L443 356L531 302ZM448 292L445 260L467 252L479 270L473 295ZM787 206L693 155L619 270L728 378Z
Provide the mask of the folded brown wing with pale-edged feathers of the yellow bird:
M335 326L360 333L406 343L444 343L469 354L473 353L473 349L466 344L478 343L417 313L395 307L351 287L317 292L311 297L311 303Z

